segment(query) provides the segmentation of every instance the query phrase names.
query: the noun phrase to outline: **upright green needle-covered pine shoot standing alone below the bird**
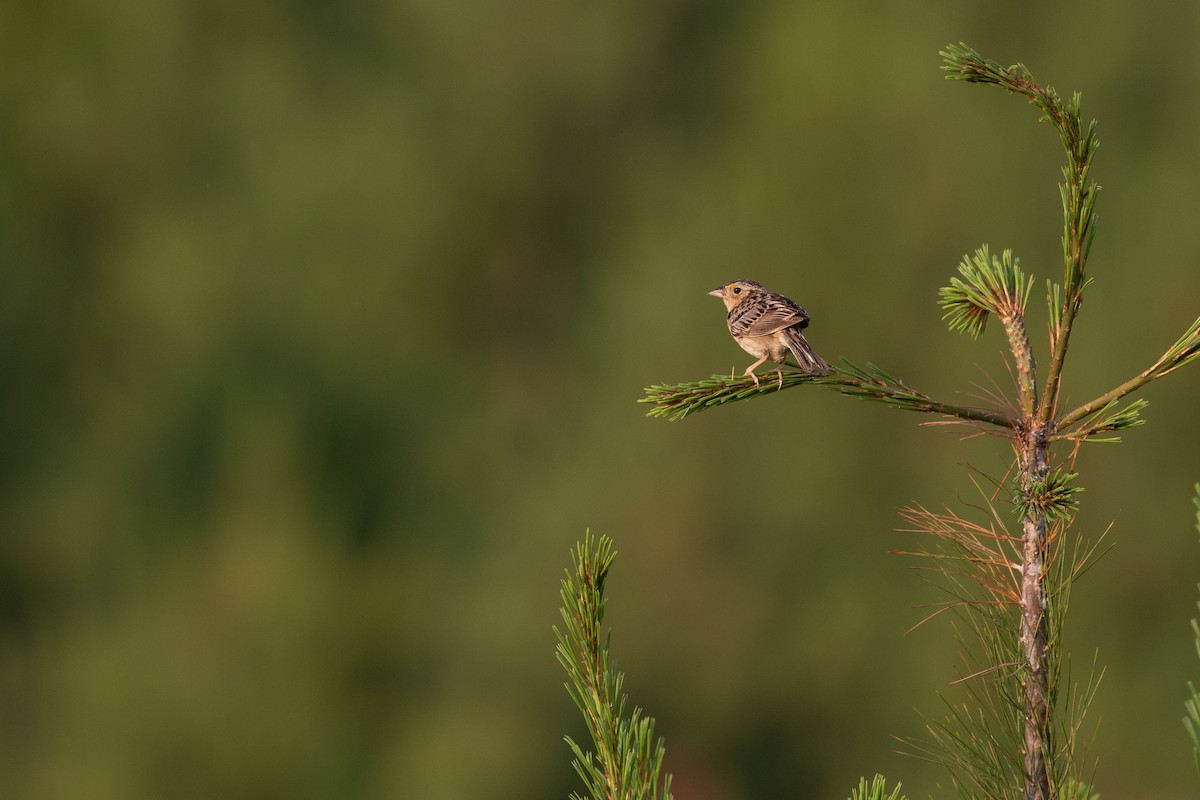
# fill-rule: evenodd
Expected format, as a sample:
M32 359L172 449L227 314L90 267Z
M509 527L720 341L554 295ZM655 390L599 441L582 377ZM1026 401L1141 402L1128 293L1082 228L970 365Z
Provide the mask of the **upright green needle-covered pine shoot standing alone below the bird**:
M566 670L566 691L583 714L595 756L570 736L566 744L594 800L670 800L671 776L660 778L666 750L661 739L654 739L654 718L636 706L625 716L625 676L612 666L612 633L601 634L604 584L616 558L611 539L595 540L588 531L571 553L574 572L562 582L563 631L554 627L558 662Z

